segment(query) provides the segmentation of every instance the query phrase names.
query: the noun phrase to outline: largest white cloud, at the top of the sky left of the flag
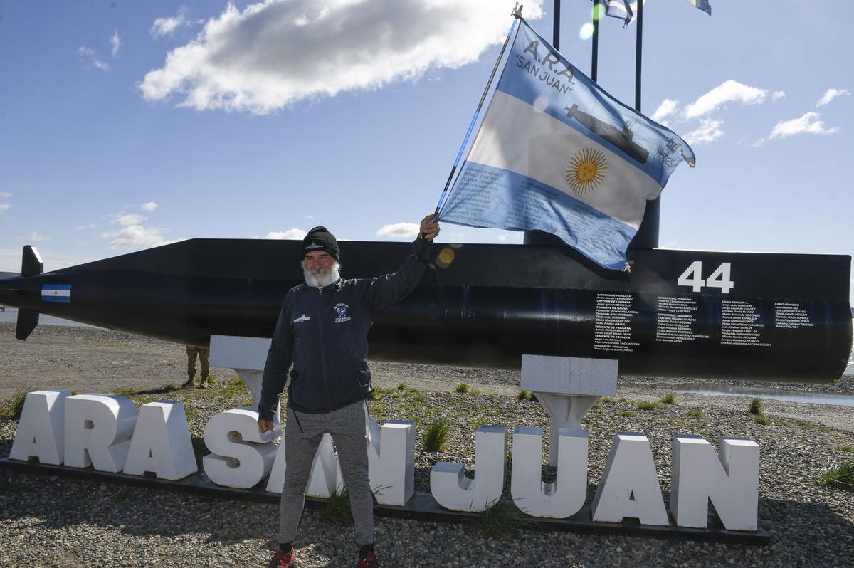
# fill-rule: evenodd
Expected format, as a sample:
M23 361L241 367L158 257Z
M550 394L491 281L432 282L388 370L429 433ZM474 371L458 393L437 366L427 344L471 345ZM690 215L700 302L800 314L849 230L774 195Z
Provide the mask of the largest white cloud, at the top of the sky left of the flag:
M529 20L542 0L525 3ZM266 114L307 98L373 90L457 68L506 34L511 2L263 0L229 3L138 85L156 101Z

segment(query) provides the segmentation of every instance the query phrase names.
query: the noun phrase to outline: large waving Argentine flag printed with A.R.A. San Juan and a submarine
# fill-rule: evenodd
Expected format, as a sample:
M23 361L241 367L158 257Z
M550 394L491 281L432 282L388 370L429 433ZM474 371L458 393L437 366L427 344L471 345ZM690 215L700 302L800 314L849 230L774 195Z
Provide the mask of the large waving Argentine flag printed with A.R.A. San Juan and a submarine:
M646 202L683 160L693 166L684 140L611 97L520 20L439 219L551 232L619 270Z

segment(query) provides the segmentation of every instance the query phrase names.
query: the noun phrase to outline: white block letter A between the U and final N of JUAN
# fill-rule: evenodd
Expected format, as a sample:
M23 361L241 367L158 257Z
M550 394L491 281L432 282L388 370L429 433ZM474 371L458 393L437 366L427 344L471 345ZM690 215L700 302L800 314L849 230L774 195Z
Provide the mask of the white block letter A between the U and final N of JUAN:
M670 524L646 436L617 432L592 508L593 520L602 523L629 517L640 524Z

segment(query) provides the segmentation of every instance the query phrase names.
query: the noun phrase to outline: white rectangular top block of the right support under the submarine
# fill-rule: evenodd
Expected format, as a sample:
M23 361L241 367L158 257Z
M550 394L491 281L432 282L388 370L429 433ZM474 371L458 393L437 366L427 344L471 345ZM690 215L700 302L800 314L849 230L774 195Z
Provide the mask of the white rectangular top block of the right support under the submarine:
M522 355L522 389L558 395L617 394L617 360Z

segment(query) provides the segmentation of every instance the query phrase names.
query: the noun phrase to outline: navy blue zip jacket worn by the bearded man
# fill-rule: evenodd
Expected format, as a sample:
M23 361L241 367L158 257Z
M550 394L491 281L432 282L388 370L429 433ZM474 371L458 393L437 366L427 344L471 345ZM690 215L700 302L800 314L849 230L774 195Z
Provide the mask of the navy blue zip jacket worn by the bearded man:
M295 410L329 413L364 401L371 394L371 318L415 290L429 249L428 241L416 240L394 274L339 278L322 290L307 284L288 290L267 352L259 418L272 420L291 365L288 401Z

